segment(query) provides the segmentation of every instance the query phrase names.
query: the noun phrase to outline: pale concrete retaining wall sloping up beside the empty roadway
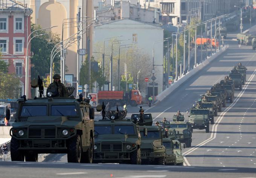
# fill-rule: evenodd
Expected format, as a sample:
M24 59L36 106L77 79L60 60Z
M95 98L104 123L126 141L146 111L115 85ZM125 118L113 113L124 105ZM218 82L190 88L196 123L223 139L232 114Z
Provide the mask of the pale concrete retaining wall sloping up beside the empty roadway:
M183 84L186 80L188 80L190 77L192 77L194 74L196 74L198 71L203 69L205 66L207 66L212 60L214 60L216 57L218 57L220 54L222 54L224 51L226 51L227 46L221 48L216 53L212 54L208 59L204 60L204 62L200 63L196 68L192 69L191 71L187 72L186 75L183 75L179 80L174 82L169 88L165 89L162 93L157 95L157 102L162 101L165 97L167 97L169 94L171 94L175 89L177 89L178 86Z

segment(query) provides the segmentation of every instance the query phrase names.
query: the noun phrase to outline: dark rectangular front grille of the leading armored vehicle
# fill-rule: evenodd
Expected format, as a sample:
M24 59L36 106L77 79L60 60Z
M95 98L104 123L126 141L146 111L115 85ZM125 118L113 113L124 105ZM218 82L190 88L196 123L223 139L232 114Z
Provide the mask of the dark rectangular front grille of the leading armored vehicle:
M29 138L55 138L55 128L29 128Z

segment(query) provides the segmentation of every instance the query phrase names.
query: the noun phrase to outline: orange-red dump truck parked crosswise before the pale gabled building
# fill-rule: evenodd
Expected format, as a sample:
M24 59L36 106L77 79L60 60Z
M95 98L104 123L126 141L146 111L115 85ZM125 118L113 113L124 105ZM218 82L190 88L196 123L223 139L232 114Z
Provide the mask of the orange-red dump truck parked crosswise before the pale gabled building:
M124 105L125 103L127 105L137 106L138 104L142 104L142 96L138 90L131 90L129 92L99 91L98 101L100 104L102 104L102 102L104 102L104 104L109 102L111 106Z

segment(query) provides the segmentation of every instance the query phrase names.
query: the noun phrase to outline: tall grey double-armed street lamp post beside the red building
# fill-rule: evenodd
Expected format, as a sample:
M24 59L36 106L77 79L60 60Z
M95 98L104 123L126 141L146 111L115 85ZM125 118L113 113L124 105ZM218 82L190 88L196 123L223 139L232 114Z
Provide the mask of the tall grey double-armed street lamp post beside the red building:
M29 43L30 43L30 41L33 39L33 38L35 38L35 37L37 37L37 36L41 36L41 35L45 35L46 33L43 33L43 34L39 34L39 35L36 35L36 36L33 36L30 40L29 40L29 37L33 34L33 33L35 33L35 32L38 32L38 31L40 31L40 30L46 30L46 29L52 29L53 27L57 27L57 26L51 26L51 27L47 27L47 28L43 28L43 29L38 29L38 30L35 30L35 31L33 31L33 32L31 32L30 34L29 34L29 36L27 36L27 51L26 51L26 65L25 65L25 72L26 72L26 74L25 74L25 95L27 96L27 97L29 97L29 48L28 48L28 45L29 45Z

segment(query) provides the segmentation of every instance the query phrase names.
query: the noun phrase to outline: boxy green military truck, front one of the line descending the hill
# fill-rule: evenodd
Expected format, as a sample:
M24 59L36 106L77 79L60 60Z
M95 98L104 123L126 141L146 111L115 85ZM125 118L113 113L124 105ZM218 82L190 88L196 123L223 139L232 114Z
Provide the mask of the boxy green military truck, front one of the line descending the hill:
M189 121L193 129L205 129L209 133L210 111L206 108L197 109L195 107L190 109Z

